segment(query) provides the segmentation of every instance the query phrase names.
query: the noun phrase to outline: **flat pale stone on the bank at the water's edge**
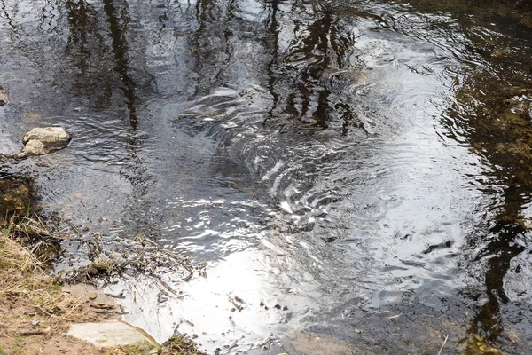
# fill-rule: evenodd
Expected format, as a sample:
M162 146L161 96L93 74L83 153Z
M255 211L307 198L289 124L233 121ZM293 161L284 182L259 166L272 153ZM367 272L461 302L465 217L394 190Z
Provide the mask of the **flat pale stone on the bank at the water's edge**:
M74 323L67 335L93 343L98 348L130 345L145 350L142 353L156 354L160 347L149 335L121 321Z

